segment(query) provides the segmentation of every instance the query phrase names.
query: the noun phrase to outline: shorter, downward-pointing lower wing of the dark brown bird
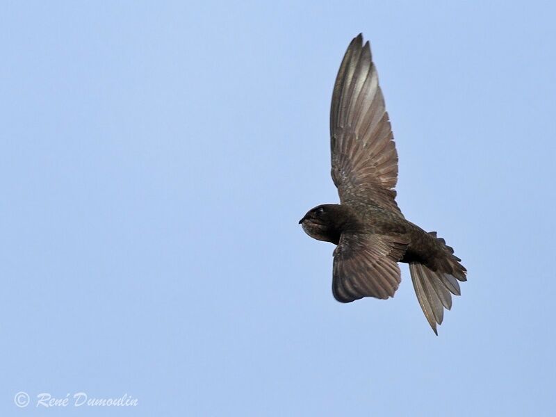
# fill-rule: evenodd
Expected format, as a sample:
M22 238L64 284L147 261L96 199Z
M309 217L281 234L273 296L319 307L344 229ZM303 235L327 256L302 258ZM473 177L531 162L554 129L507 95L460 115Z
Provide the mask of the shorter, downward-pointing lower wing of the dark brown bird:
M401 281L398 261L406 248L407 242L393 236L342 234L334 250L334 298L393 297Z

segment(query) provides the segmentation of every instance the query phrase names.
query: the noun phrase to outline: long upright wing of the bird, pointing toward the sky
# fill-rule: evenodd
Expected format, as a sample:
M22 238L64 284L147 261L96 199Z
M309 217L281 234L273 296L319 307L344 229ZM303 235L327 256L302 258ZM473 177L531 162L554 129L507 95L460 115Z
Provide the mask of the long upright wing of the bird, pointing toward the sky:
M399 213L395 203L398 153L369 42L354 38L343 57L330 109L332 179L341 202L375 204Z

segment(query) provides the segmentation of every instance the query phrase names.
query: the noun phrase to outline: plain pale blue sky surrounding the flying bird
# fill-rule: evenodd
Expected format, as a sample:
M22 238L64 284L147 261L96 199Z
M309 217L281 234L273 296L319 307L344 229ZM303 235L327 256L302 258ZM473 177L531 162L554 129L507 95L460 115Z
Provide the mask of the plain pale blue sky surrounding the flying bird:
M5 1L2 416L554 415L556 6ZM340 304L329 101L363 32L398 203L468 282ZM15 407L26 391L32 402ZM138 398L37 409L35 396Z

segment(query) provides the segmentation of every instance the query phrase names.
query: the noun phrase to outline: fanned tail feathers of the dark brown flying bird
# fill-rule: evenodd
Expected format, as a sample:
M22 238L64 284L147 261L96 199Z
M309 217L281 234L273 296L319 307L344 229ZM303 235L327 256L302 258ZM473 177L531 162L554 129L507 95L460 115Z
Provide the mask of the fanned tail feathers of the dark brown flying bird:
M436 238L436 232L430 234ZM458 281L467 280L467 271L459 263L461 259L454 256L454 250L446 246L443 239L437 238L437 240L443 244L447 255L439 260L438 270L433 271L422 263L409 263L409 272L411 272L411 281L417 299L436 336L438 336L436 325L441 325L444 309L452 308L452 294L461 294Z

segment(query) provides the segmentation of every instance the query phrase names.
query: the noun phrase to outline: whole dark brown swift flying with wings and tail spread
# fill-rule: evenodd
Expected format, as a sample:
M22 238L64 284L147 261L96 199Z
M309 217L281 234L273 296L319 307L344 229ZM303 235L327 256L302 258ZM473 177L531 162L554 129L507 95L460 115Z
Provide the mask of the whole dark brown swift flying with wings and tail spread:
M322 204L300 220L312 238L334 250L332 293L339 302L393 297L398 262L409 263L421 309L434 333L443 309L466 281L461 259L436 232L405 220L395 202L398 154L388 113L361 34L347 47L334 83L330 110L332 179L341 204Z

